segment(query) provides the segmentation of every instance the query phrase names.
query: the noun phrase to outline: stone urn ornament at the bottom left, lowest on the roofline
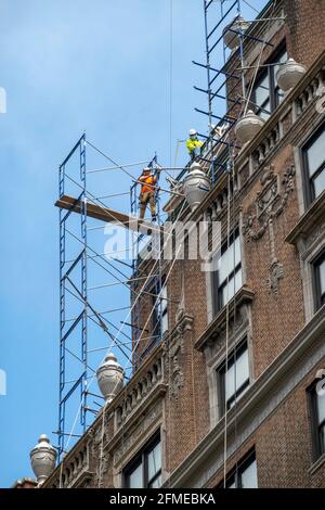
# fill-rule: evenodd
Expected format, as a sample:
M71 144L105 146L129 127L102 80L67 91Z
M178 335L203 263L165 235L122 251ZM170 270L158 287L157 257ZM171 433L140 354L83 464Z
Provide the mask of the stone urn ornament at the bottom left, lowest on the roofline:
M38 444L30 451L31 468L39 484L42 484L55 469L57 451L50 439L42 434Z

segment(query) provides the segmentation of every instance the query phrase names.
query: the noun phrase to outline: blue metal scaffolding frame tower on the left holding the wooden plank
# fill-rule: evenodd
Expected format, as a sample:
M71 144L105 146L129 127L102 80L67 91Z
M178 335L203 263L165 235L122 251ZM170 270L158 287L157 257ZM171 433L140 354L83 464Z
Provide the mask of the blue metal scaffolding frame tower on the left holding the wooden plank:
M107 350L108 348L116 347L118 348L122 355L128 358L132 348L128 347L128 345L136 344L140 333L142 332L140 328L140 299L136 297L142 295L142 293L147 293L152 296L158 297L156 294L153 294L152 289L159 288L161 290L161 260L160 257L158 259L157 268L155 273L151 277L148 285L146 289L140 288L140 282L142 281L140 276L140 264L141 264L141 244L145 241L146 235L146 226L143 231L134 231L131 229L132 232L132 245L129 251L132 253L132 263L127 264L122 260L116 260L116 263L120 263L128 267L130 270L130 275L125 275L118 267L113 265L112 262L108 262L104 258L105 254L101 254L91 247L89 239L88 239L88 231L100 229L102 227L89 227L88 226L88 218L93 217L101 221L109 221L112 220L112 216L114 217L114 212L112 209L106 208L106 204L104 204L100 197L94 196L88 189L88 174L95 174L98 171L104 171L107 168L102 168L100 170L89 170L87 168L87 145L93 148L93 145L87 141L86 132L79 138L77 143L74 145L72 151L65 157L63 163L58 167L58 201L55 205L60 207L60 384L58 384L58 429L55 432L58 437L58 460L62 458L62 455L66 450L66 439L72 437L79 437L80 434L73 434L72 432L67 431L67 405L73 399L76 398L79 403L79 408L77 409L77 416L75 418L75 423L78 421L79 425L81 426L82 433L84 433L90 425L88 423L89 413L98 415L99 409L94 409L90 407L90 396L96 398L103 398L102 396L91 393L88 390L89 380L93 378L95 370L90 367L89 365L89 354L100 350ZM100 152L100 151L99 151ZM67 171L67 167L73 160L73 157L78 157L78 178L72 178L72 176ZM143 164L143 162L140 162ZM140 165L139 163L139 165ZM150 161L146 165L153 169L153 173L157 176L157 183L156 183L156 206L157 206L157 230L161 227L161 211L160 211L160 201L158 196L158 186L159 186L159 175L161 167L157 162L157 155ZM123 168L119 165L116 165L116 169ZM109 168L108 168L109 169ZM67 196L66 193L66 186L67 180L73 182L78 189L79 194L76 199ZM134 180L134 179L133 179ZM120 213L116 213L116 220L121 227L130 228L131 221L136 221L136 214L138 214L138 205L139 205L139 181L135 179L134 182L130 186L130 209L131 215L127 216ZM122 193L127 194L127 193ZM107 195L109 196L115 196ZM118 194L119 195L119 194ZM105 199L104 196L103 199ZM94 206L96 204L96 206ZM100 208L101 213L99 214L95 212L94 207L98 209ZM73 233L69 221L74 217L79 217L80 219L77 220L79 224L80 233L79 235ZM128 218L129 224L127 221L121 221L119 219L120 216L125 216ZM141 229L142 230L142 229ZM160 231L160 230L159 230ZM160 234L159 234L160 237ZM153 237L154 238L154 237ZM67 248L68 246L74 243L74 245L79 246L77 253L73 257L67 257ZM100 267L102 267L105 271L107 271L113 278L117 279L116 283L105 283L103 285L95 285L89 286L89 260L94 262ZM105 266L103 267L102 262L105 262ZM114 271L114 272L113 272ZM116 275L117 273L117 275ZM121 276L123 280L121 280ZM116 285L123 285L127 289L128 296L131 295L131 298L128 299L128 306L125 308L113 308L109 310L98 311L90 303L89 291L96 291L99 289L109 288L115 289ZM147 290L147 288L150 288ZM67 308L69 305L69 301L77 299L81 303L81 310L80 313L76 314L74 317L67 317ZM135 306L132 309L132 305L136 299ZM161 299L159 301L159 307L161 308ZM122 309L129 309L131 311L131 323L127 322L126 320L120 321L122 323L121 327L116 327L110 320L105 318L105 315L108 313L119 311ZM105 333L108 334L110 337L110 346L99 346L96 348L89 348L89 321L92 320L98 327L100 327ZM128 327L130 328L131 334L127 335L123 333L122 328ZM77 331L77 329L80 331ZM108 329L109 328L109 329ZM109 330L114 328L118 331L117 334L123 335L126 340L117 341L116 336L114 337ZM72 349L69 347L69 340L73 334L77 332L78 340L78 352ZM157 342L161 339L161 332L155 335L152 339L151 335L150 340L153 340L148 347L153 348ZM126 352L129 349L129 353ZM80 370L78 375L72 375L69 373L69 368L67 367L67 356L73 356L79 364ZM132 367L130 370L134 370L134 367L139 360L135 360L133 356ZM131 374L130 374L131 377ZM126 375L126 380L129 377ZM99 404L94 400L93 404L99 406ZM79 415L79 417L78 417Z

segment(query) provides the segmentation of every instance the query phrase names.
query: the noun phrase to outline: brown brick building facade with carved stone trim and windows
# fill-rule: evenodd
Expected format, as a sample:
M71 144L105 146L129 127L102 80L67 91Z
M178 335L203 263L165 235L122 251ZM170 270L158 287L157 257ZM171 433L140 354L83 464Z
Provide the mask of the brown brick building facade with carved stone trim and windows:
M231 186L220 175L199 207L180 216L221 221L224 241L230 232L223 256L239 247L235 295L224 302L220 275L202 271L200 260L164 262L164 341L140 343L131 380L43 487L217 487L224 473L227 486L325 487L325 397L316 391L325 369L323 3L270 2L261 17L285 23L249 29L272 43L261 64L288 54L307 73L282 94L274 67L260 66L253 107L265 114L259 84L268 82L271 114L237 151ZM259 54L259 44L245 44L247 67ZM226 71L238 65L234 52ZM249 86L253 71L245 76ZM152 324L151 309L146 294L142 326ZM236 391L226 393L231 371Z

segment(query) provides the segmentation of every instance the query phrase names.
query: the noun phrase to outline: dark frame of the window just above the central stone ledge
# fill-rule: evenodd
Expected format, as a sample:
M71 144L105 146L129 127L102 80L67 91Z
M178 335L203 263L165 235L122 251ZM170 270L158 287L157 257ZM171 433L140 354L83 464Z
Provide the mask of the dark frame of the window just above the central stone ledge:
M229 284L231 279L234 279L234 286L236 288L236 275L242 271L243 279L243 259L242 259L242 238L239 227L236 227L230 234L230 242L227 240L223 241L221 245L221 256L231 247L233 243L236 242L236 239L239 238L239 247L240 247L240 260L234 267L234 269L227 275L226 279L220 283L219 269L212 272L212 298L213 298L213 315L216 316L219 311L222 310L224 306L232 299L229 299L226 303L223 303L221 295L222 290ZM236 294L236 292L235 292ZM234 294L234 295L235 295Z

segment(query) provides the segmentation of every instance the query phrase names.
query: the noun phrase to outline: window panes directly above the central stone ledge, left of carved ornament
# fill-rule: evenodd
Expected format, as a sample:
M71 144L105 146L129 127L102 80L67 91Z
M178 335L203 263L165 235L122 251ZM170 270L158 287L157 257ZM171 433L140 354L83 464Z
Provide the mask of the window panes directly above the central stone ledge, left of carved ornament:
M223 243L217 271L212 273L214 311L221 310L223 306L235 295L243 285L242 278L242 254L239 230L230 237L230 241Z

